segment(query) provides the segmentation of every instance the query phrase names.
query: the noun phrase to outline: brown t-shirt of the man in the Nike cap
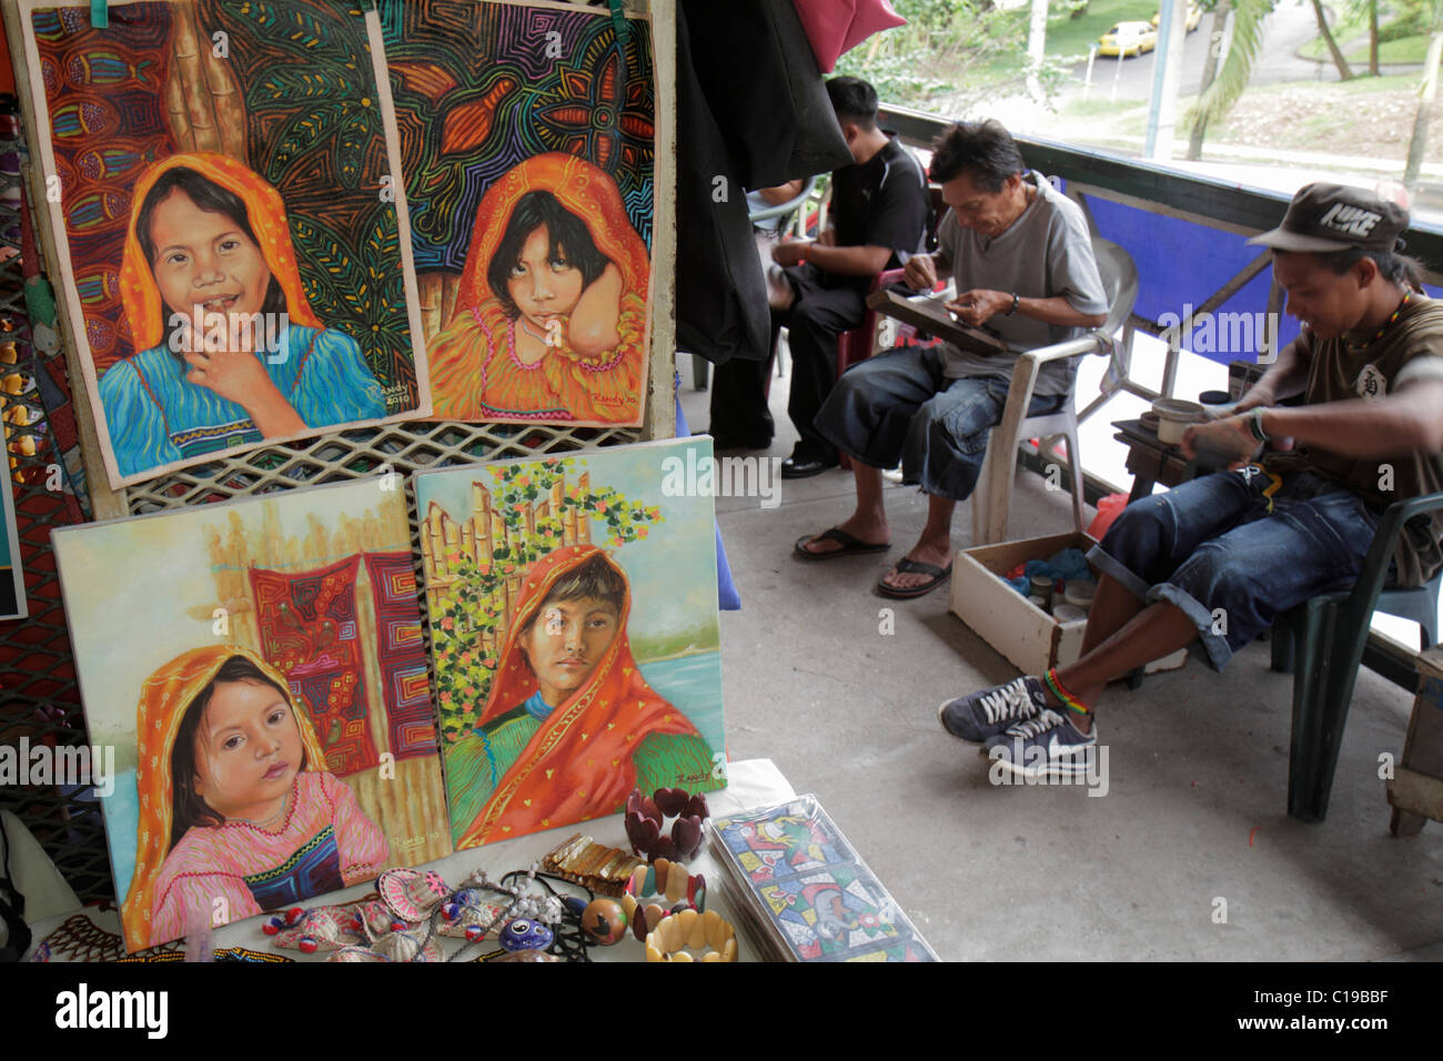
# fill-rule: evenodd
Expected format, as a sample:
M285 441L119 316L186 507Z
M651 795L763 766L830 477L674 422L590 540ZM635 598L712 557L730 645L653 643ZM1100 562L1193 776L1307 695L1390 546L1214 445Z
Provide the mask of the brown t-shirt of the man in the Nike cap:
M1382 338L1361 351L1349 351L1342 339L1313 339L1304 401L1381 398L1423 380L1443 380L1443 300L1414 293ZM1443 491L1443 453L1413 450L1401 458L1364 459L1309 445L1299 456L1310 471L1362 495L1378 512L1395 501ZM1443 567L1443 512L1411 520L1394 559L1400 586L1431 579Z

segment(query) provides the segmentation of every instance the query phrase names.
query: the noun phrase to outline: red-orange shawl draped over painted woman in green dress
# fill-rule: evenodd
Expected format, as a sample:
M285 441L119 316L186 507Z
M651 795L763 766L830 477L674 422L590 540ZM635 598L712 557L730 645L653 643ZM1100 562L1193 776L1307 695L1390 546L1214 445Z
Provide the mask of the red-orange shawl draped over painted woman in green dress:
M561 824L619 811L626 794L636 787L632 752L648 735L700 736L690 719L662 700L641 676L626 638L631 583L616 562L596 546L557 549L531 564L481 723L505 715L537 691L535 674L518 644L521 634L551 588L597 556L626 583L616 638L586 684L557 704L531 736L457 840L457 847L547 829L553 821Z

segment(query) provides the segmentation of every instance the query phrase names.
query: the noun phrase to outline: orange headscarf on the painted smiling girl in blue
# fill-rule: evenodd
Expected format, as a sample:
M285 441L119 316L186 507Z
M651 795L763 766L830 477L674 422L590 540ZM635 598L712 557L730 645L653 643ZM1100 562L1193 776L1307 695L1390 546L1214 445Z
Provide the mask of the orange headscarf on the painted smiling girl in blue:
M266 183L248 166L209 152L193 152L190 154L172 154L162 159L136 182L130 199L130 231L126 232L126 251L120 263L120 297L126 303L126 318L130 320L130 331L136 341L136 352L150 349L165 336L163 318L170 312L188 313L186 306L170 306L160 299L160 289L156 287L150 261L140 248L140 238L136 235L136 222L140 206L146 195L154 188L162 173L186 166L193 169L208 180L238 195L245 204L245 214L251 222L251 231L261 248L261 257L280 281L286 292L286 313L291 323L320 328L320 320L306 300L306 292L300 284L300 270L296 267L296 250L290 244L290 228L286 225L286 204L281 202L280 192Z

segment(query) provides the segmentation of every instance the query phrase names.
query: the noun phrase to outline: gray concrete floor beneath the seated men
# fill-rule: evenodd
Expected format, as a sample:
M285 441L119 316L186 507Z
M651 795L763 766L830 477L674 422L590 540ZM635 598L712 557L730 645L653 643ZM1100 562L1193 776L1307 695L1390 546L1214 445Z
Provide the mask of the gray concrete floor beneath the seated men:
M681 361L700 432L709 394ZM784 378L778 458L795 440L785 401ZM1190 658L1137 691L1113 686L1098 710L1104 797L994 787L935 709L1017 671L947 611L945 589L873 589L911 547L925 498L889 489L887 556L792 556L851 499L840 471L785 482L771 510L717 498L743 605L722 614L727 751L771 758L815 793L944 959L1443 959L1443 824L1392 839L1378 777L1380 755L1401 752L1410 694L1359 676L1323 824L1287 817L1291 678L1268 670L1263 644L1222 674ZM1020 475L1012 537L1068 524L1066 495ZM965 505L954 541L970 543ZM895 634L879 632L883 608Z

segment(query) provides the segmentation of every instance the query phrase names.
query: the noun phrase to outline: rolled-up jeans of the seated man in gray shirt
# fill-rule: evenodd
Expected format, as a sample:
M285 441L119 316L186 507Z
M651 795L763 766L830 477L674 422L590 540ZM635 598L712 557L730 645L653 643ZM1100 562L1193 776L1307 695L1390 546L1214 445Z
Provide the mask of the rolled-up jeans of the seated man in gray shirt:
M900 462L903 484L965 501L1010 385L1006 375L949 380L935 348L899 346L843 372L814 423L853 460L872 468ZM1069 398L1035 394L1027 416L1055 413Z

